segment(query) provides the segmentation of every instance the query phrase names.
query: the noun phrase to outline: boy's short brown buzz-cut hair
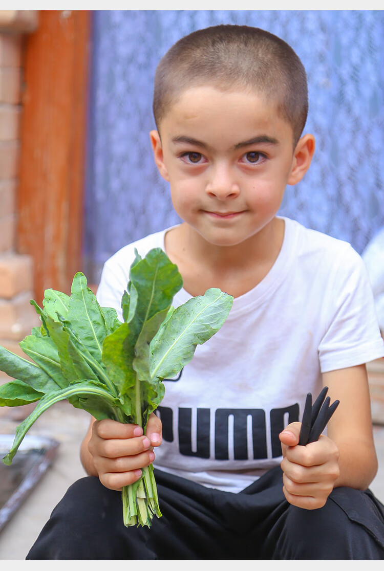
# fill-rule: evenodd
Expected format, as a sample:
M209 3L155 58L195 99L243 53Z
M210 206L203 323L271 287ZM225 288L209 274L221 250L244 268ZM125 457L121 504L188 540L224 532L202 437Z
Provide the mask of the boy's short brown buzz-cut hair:
M277 108L299 140L308 112L304 66L281 38L250 26L219 25L179 39L155 73L153 114L157 128L179 95L190 87L250 89Z

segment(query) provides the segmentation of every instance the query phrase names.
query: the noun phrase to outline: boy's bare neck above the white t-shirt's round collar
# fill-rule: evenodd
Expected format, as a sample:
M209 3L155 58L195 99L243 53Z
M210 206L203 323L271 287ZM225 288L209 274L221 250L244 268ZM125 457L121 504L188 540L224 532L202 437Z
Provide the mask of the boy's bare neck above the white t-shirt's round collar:
M182 223L167 232L165 247L191 295L202 295L206 289L218 287L239 297L257 286L271 270L282 247L284 230L284 221L274 218L241 244L215 246Z

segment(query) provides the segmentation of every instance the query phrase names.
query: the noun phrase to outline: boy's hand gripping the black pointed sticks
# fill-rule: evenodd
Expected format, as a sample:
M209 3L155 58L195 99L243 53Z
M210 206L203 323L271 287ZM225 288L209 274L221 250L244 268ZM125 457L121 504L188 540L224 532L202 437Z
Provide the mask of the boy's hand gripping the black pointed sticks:
M300 428L301 423L291 423L279 435L283 492L298 508L318 509L325 505L340 475L339 449L324 435L317 442L298 446Z

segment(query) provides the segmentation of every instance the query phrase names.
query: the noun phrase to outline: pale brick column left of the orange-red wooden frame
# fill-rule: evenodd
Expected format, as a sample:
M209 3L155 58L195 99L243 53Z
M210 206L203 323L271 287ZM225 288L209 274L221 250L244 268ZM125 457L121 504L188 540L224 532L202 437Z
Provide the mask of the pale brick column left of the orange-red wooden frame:
M33 263L15 246L23 39L37 25L37 11L0 10L0 345L21 355L19 341L39 323L29 303ZM6 380L0 372L0 383Z

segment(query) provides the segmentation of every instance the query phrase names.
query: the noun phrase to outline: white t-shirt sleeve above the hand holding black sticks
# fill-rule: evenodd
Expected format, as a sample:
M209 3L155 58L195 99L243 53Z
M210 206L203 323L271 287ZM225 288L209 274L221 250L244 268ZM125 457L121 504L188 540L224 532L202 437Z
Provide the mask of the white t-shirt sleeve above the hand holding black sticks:
M324 292L323 331L319 344L322 372L384 356L368 272L351 246L339 257Z

